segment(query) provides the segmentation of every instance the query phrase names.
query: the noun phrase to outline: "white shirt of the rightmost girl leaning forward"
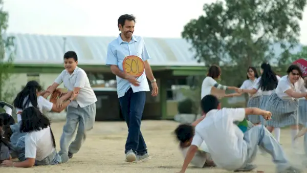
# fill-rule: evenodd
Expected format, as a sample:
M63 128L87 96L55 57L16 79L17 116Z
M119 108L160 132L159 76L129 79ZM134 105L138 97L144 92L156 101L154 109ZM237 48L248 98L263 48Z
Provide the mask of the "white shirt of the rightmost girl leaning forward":
M286 94L286 91L290 89L294 90L295 92L307 92L306 88L304 87L304 80L302 78L292 84L288 79L288 75L281 77L275 92L277 96L283 100L294 100L295 98Z

